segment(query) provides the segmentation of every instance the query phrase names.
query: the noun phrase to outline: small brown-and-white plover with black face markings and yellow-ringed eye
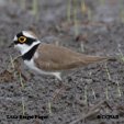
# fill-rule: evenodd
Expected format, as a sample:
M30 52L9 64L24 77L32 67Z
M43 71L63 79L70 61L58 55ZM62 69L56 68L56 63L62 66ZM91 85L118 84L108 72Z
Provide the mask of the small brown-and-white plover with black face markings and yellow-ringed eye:
M31 31L19 32L11 43L21 54L24 64L34 72L55 76L61 81L61 72L90 64L109 60L108 56L90 56L64 46L46 44Z

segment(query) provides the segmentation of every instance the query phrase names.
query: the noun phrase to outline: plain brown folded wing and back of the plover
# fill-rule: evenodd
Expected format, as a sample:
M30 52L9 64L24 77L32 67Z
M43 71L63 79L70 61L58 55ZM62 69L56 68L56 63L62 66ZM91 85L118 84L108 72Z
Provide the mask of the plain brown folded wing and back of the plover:
M52 44L41 44L35 64L45 71L72 69L106 59L106 57L87 56Z

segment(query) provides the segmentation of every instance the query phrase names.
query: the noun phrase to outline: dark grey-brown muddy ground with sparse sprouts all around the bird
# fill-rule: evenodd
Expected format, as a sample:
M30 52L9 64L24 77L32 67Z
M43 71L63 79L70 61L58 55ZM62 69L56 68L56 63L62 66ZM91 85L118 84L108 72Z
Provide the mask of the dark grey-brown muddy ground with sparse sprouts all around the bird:
M71 4L70 22L69 0L38 0L35 14L29 1L23 9L15 0L0 0L0 124L124 124L124 1L86 0L90 11L84 13L80 11L81 0L77 0ZM53 100L61 83L54 77L31 76L21 60L21 70L27 77L23 87L21 78L13 79L4 71L11 57L19 55L8 46L22 30L34 31L48 44L117 59L64 74L66 88ZM7 117L23 114L42 119Z

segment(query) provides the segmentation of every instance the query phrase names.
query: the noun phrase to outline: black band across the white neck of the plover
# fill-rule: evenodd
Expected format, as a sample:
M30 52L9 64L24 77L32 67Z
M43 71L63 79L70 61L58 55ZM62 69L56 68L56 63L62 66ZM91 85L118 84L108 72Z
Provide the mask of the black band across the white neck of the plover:
M31 60L32 57L34 56L37 47L40 44L36 44L35 46L33 46L29 52L26 52L24 55L22 55L22 59L23 60Z

